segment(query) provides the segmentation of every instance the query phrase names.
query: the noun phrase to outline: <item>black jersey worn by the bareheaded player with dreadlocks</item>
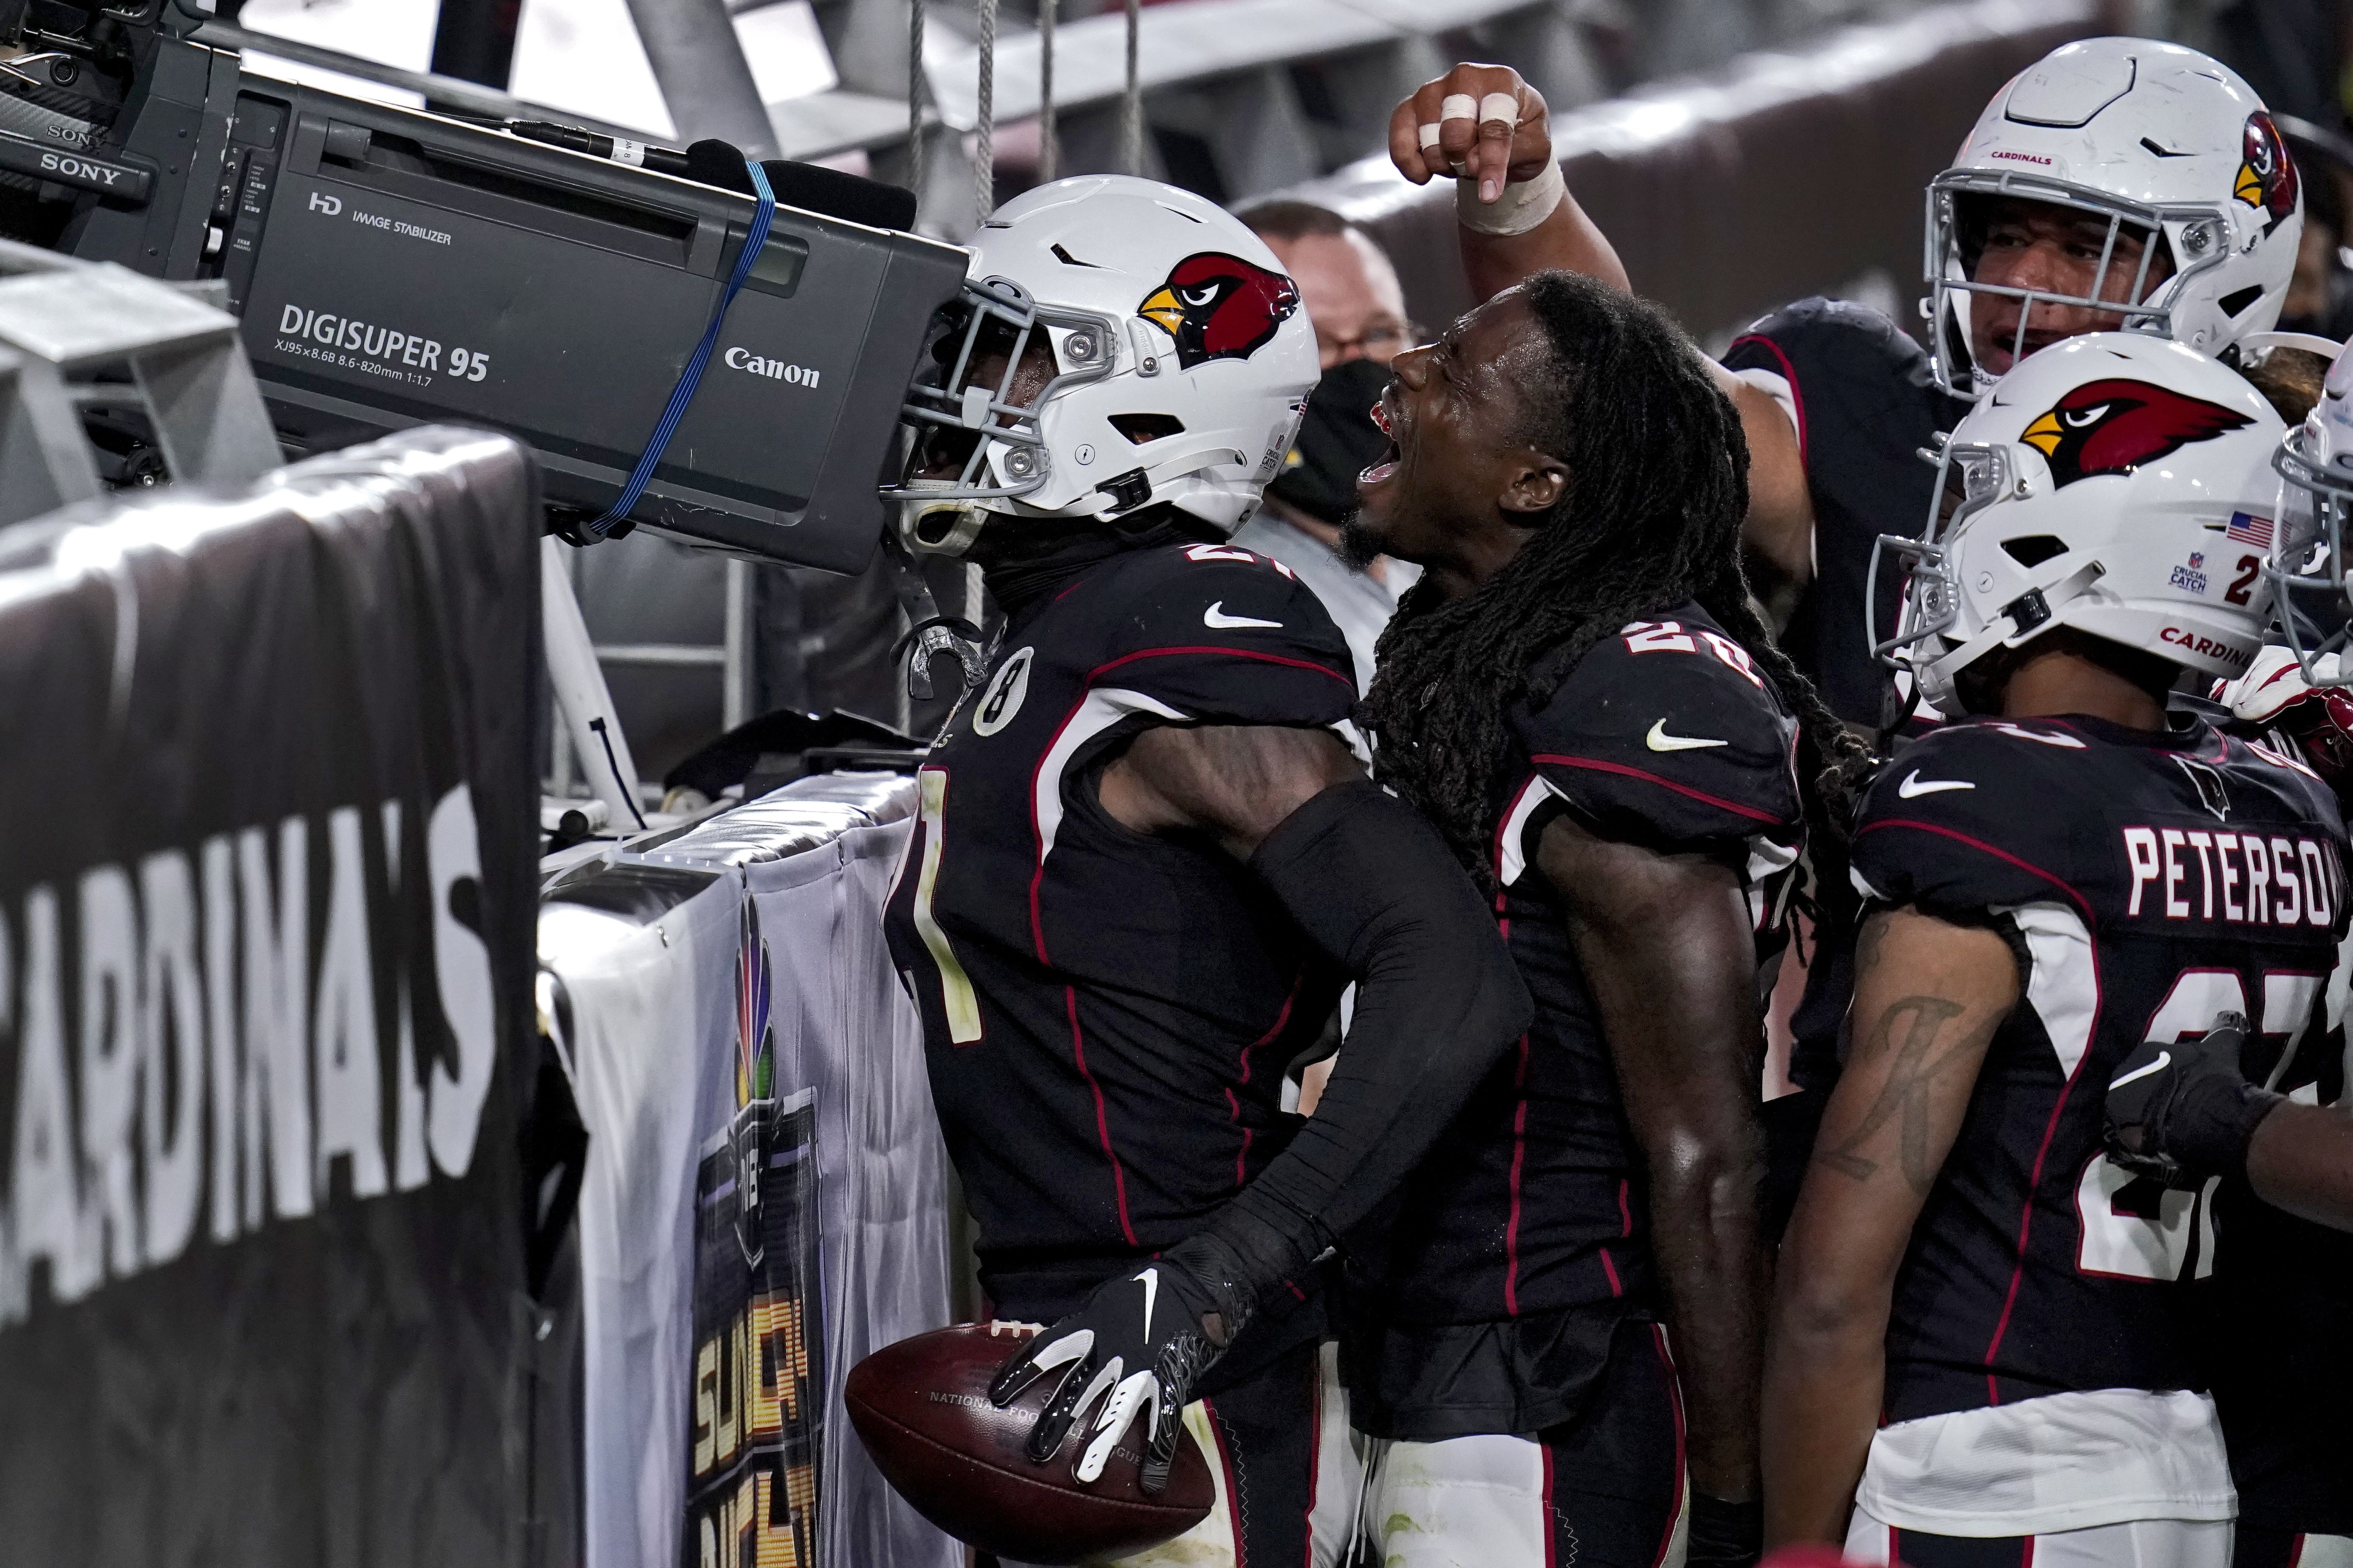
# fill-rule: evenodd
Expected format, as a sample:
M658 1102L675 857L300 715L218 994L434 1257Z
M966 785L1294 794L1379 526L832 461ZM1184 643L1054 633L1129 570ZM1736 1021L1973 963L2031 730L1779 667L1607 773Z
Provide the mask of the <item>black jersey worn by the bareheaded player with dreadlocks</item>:
M1602 637L1508 724L1497 919L1537 1020L1386 1227L1351 1248L1355 1420L1384 1436L1565 1420L1614 1324L1654 1305L1640 1157L1593 994L1537 872L1544 827L1569 813L1607 839L1722 856L1748 879L1760 943L1777 940L1798 858L1798 726L1697 604Z

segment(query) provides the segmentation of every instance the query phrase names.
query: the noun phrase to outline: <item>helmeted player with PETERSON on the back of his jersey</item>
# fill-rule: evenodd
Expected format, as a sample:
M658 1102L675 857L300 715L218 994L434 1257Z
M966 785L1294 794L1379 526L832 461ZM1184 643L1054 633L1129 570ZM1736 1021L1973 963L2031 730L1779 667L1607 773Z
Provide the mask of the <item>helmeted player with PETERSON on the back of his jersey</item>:
M1946 447L1889 646L1953 719L1854 835L1849 1058L1779 1262L1769 1540L1915 1566L2221 1568L2233 1488L2184 1281L2214 1190L2101 1157L2144 1041L2285 1051L2344 931L2337 802L2167 712L2268 616L2280 423L2144 334L2047 348Z

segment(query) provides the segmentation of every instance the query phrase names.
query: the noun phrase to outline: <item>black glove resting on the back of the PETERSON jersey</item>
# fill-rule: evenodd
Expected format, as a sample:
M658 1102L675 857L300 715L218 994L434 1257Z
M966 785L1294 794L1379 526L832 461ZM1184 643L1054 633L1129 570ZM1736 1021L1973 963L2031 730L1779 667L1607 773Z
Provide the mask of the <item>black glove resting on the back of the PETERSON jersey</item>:
M2202 1039L2148 1041L2108 1079L2101 1140L2108 1159L2177 1190L2247 1164L2247 1140L2280 1105L2238 1070L2245 1013L2217 1013Z

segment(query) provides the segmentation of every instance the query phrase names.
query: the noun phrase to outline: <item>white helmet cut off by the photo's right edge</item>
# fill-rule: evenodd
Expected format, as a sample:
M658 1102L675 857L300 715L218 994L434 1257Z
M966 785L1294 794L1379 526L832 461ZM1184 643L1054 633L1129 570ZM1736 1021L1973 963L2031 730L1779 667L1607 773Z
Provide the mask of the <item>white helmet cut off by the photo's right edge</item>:
M2346 581L2346 520L2353 515L2353 348L2337 355L2320 402L2273 454L2280 470L2280 550L2273 578L2280 625L2304 677L2353 686L2353 614ZM2334 658L2329 658L2334 656Z

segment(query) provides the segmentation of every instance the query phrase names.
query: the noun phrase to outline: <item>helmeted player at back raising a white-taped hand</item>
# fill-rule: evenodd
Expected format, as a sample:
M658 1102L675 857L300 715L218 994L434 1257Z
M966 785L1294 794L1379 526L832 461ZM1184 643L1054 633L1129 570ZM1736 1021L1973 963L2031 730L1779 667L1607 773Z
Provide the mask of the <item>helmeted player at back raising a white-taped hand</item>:
M1539 268L1626 287L1565 193L1544 99L1518 73L1454 66L1398 106L1388 143L1417 183L1466 169L1473 296ZM1927 353L1885 315L1831 299L1732 343L1718 381L1748 433L1748 571L1840 717L1887 717L1864 590L1873 541L1927 517L1929 470L1913 454L2019 357L2080 331L2151 331L2228 357L2278 322L2301 233L2297 167L2247 82L2195 49L2094 38L2007 82L1929 183ZM2306 407L2311 393L2282 414ZM1871 616L1892 621L1892 583Z

